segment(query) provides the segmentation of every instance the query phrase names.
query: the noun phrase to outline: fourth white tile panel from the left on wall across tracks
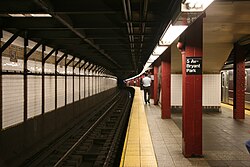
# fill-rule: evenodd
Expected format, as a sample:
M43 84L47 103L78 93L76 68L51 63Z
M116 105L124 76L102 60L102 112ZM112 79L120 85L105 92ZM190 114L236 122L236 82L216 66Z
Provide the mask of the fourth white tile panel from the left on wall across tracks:
M57 76L57 107L65 105L65 77Z

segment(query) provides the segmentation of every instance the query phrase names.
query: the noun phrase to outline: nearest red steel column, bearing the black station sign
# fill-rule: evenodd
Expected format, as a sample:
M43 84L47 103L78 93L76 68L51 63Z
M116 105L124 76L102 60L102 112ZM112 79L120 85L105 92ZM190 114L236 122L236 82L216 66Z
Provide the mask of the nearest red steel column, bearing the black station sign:
M186 47L182 52L182 152L185 157L202 155L202 32L203 18L200 17L185 31ZM197 66L193 67L191 61L200 62L200 73L193 71Z

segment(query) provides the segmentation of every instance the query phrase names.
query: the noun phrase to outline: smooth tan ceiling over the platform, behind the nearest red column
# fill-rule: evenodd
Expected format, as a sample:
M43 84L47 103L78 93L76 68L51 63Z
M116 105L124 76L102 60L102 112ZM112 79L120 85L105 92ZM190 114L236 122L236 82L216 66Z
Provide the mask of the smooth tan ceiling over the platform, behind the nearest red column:
M220 73L234 43L250 35L249 0L215 0L203 19L203 73ZM172 73L181 73L181 55L172 45Z

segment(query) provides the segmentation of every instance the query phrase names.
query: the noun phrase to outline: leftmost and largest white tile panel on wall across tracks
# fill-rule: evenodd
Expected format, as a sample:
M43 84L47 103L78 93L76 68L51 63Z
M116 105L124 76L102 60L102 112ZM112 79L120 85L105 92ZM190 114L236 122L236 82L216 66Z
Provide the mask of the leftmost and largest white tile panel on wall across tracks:
M3 128L23 121L24 91L22 75L3 75Z

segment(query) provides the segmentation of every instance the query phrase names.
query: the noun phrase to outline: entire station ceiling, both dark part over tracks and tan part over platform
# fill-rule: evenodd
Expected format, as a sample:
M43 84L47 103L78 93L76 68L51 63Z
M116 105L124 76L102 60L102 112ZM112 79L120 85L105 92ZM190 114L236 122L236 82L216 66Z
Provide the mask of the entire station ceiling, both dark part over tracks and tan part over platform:
M0 27L103 66L124 79L141 72L182 0L1 0ZM203 25L203 72L219 73L233 44L250 32L249 0L215 0ZM49 18L8 14L49 13ZM172 73L181 55L171 46Z

